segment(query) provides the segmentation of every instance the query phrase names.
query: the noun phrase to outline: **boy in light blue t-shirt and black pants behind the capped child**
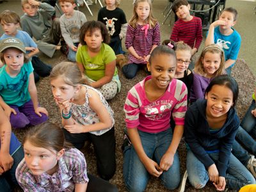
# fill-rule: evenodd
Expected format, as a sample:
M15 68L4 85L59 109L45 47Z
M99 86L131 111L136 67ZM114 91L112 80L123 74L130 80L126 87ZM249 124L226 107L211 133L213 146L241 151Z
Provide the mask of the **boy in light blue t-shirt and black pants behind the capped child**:
M10 10L5 10L0 14L0 22L4 31L4 34L0 37L0 40L13 36L15 38L19 38L25 45L26 56L27 58L31 58L31 63L34 68L33 73L35 77L35 82L39 80L39 76L49 76L52 67L46 65L36 56L39 50L33 39L28 35L28 33L18 30L20 26L19 15Z

